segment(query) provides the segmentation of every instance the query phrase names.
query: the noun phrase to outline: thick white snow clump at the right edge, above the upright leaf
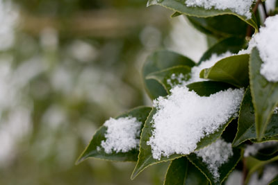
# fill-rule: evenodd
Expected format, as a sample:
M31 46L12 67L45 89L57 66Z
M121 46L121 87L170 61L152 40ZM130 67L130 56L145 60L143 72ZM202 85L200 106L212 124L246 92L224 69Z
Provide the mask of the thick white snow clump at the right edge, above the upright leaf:
M265 19L265 27L261 27L259 33L253 35L247 50L238 54L251 53L256 46L263 64L261 75L269 82L278 82L278 15Z

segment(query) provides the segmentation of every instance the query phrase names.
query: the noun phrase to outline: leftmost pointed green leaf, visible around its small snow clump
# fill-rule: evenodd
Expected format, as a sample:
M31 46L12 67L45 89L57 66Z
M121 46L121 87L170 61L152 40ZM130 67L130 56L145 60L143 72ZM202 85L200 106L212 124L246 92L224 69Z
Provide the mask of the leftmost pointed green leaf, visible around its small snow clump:
M132 116L137 118L138 121L142 122L142 126L144 125L149 112L151 112L151 107L136 107L135 109L131 109L129 112L126 112L117 118ZM138 153L137 149L130 150L129 152L113 152L111 154L106 154L103 148L97 148L101 146L101 141L105 141L105 134L106 134L107 127L101 126L99 130L95 133L92 137L92 141L90 144L85 148L84 152L81 154L79 159L76 161L76 164L79 164L81 161L84 161L88 157L95 157L99 159L107 159L111 161L137 161L138 160Z

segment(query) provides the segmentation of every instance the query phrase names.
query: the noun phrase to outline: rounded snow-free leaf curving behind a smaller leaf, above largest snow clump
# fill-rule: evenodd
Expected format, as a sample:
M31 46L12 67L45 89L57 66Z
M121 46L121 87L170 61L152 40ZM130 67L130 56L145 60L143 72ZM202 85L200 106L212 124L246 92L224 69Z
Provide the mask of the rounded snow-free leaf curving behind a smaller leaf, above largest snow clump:
M142 68L142 78L147 94L151 99L158 98L159 96L166 96L167 91L158 81L154 79L147 80L146 76L148 76L149 73L181 65L193 67L195 66L195 62L172 51L156 51L152 55L149 55Z

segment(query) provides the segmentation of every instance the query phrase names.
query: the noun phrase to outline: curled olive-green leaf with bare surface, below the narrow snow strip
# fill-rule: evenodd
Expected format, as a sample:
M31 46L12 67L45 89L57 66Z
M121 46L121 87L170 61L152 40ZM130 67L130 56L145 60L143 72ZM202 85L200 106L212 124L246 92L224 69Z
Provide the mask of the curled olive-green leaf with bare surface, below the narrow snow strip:
M203 69L201 78L227 82L236 87L247 87L249 55L233 55L216 62L213 67Z

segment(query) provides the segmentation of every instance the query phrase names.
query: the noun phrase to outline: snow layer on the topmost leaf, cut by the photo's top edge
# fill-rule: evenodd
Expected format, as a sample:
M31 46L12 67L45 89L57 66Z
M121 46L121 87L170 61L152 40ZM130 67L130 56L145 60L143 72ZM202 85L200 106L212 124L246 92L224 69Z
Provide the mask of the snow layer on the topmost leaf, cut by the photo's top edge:
M186 6L201 6L205 9L215 8L217 10L231 10L238 15L243 15L250 19L252 13L250 8L254 0L186 0Z

